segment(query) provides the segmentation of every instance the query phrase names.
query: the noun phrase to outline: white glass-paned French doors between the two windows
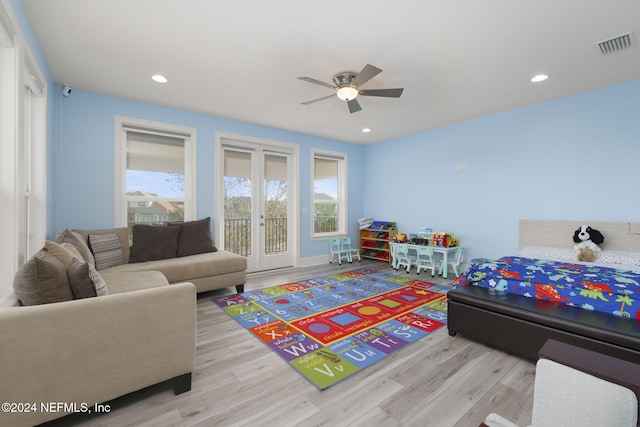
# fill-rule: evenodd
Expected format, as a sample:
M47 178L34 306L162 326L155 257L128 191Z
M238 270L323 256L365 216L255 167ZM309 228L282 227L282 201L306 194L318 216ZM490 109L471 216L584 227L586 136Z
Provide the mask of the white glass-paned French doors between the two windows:
M224 249L246 256L249 272L295 266L297 150L220 137L218 153L216 206L222 221L216 222L216 234L224 236Z

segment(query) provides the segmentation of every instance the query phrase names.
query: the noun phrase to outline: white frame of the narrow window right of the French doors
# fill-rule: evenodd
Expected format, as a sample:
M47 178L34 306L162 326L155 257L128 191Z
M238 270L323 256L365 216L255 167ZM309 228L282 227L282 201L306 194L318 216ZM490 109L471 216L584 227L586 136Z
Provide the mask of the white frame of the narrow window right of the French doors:
M335 160L338 162L338 194L336 204L338 206L338 227L336 231L326 233L316 233L315 231L315 212L316 212L316 200L315 200L315 175L316 175L316 159ZM349 232L347 213L349 212L347 206L347 165L348 155L344 152L323 150L318 148L311 149L311 239L312 240L326 240L336 236L346 236ZM320 202L320 201L318 201ZM327 201L322 201L327 203Z

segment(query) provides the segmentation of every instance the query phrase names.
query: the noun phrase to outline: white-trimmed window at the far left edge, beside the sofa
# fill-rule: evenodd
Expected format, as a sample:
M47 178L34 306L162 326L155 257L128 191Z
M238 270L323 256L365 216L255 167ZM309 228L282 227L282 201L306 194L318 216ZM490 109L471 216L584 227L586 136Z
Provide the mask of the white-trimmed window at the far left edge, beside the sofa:
M46 239L48 98L48 81L11 2L0 0L0 299Z

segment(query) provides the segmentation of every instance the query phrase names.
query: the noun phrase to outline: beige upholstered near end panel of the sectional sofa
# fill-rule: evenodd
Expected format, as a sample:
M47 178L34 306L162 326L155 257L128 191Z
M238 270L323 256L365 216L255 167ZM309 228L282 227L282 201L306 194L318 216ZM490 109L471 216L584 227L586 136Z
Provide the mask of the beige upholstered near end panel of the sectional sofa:
M191 283L28 307L0 308L0 402L36 413L0 412L0 425L65 414L42 402L102 403L189 374L196 337Z

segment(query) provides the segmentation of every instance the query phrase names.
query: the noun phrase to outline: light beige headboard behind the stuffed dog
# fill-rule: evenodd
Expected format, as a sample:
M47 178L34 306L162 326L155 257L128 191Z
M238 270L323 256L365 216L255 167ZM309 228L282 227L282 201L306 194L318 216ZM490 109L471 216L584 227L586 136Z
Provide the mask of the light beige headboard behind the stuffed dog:
M520 220L520 249L525 246L572 248L573 233L581 225L589 225L604 235L602 249L640 252L640 223Z

